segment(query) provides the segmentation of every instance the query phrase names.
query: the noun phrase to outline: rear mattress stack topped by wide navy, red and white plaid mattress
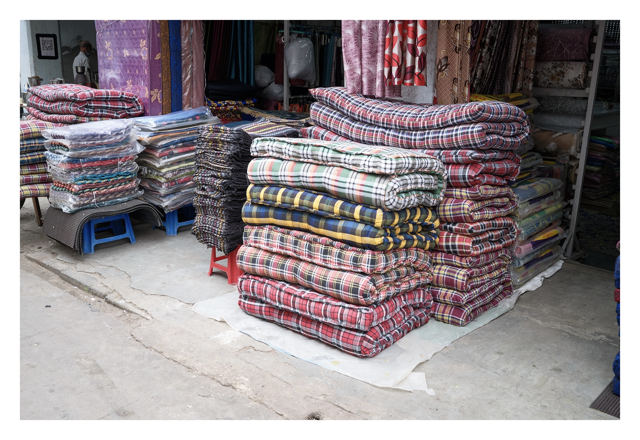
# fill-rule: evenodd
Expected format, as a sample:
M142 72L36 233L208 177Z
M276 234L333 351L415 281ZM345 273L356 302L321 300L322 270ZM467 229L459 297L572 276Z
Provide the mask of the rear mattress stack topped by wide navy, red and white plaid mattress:
M511 295L506 249L516 235L508 215L516 209L507 186L520 171L529 135L524 111L506 102L425 106L348 94L346 89L310 90L317 126L301 136L390 145L438 158L447 188L437 208L440 237L432 252L433 317L466 325Z

